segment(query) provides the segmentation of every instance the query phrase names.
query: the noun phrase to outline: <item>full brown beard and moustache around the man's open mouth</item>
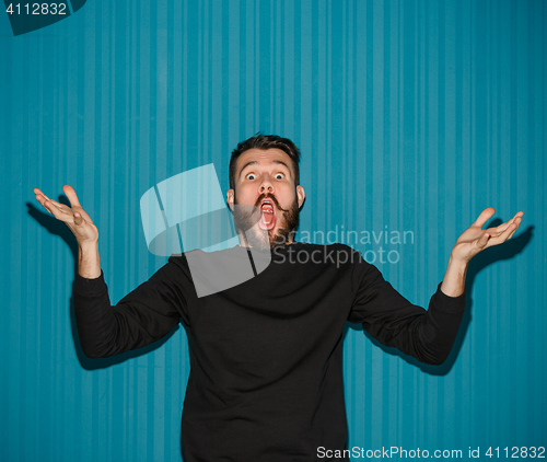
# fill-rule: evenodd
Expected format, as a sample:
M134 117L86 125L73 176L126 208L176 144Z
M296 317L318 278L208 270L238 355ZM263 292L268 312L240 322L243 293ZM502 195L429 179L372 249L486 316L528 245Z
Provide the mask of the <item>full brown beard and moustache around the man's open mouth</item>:
M271 199L280 212L277 217L280 224L271 230L263 230L258 227L261 217L258 206L265 198ZM260 251L272 251L277 246L292 242L300 222L298 196L288 209L283 209L271 194L261 194L254 206L237 204L234 194L234 205L235 229L245 245Z

